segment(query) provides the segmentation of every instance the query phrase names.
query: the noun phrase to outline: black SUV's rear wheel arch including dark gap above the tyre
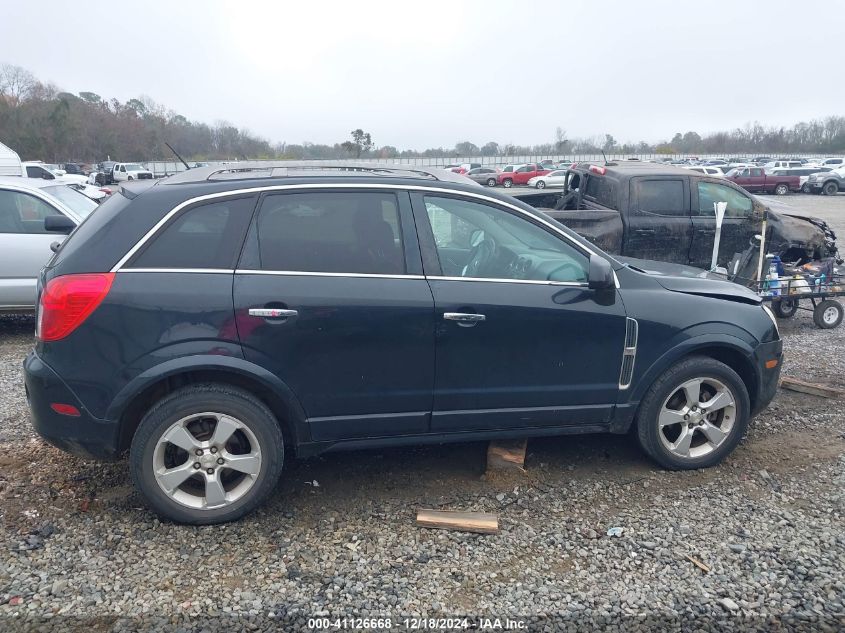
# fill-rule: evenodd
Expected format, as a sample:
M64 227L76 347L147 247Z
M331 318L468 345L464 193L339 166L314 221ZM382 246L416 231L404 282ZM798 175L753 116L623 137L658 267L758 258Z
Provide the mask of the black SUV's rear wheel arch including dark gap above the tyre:
M107 418L118 423L118 452L129 448L141 419L153 404L180 387L199 383L232 385L261 400L276 417L287 446L296 449L310 440L301 404L273 374L242 359L182 357L147 370L115 397Z

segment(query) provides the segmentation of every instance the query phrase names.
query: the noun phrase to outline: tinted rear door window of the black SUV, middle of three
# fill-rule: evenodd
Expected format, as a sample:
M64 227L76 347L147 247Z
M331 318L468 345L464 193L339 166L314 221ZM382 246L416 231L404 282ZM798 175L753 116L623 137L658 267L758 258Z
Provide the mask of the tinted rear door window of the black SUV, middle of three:
M256 226L263 270L405 274L393 193L269 195Z

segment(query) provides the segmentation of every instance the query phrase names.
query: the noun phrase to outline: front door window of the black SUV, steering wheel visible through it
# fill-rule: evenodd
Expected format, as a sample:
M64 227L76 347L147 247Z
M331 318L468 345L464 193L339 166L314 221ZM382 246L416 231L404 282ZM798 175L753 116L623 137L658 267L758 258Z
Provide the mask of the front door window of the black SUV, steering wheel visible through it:
M504 209L459 198L425 196L424 201L445 276L587 281L587 255L533 222ZM467 274L469 262L454 265L456 250L463 251L466 260L485 242L497 254L483 269Z

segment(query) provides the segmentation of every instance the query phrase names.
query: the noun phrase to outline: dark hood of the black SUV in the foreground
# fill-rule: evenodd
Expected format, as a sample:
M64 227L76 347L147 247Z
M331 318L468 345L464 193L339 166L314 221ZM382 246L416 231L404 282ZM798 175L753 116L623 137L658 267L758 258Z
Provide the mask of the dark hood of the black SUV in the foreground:
M657 283L671 292L737 301L751 305L760 305L763 302L759 296L748 288L700 268L634 257L616 257L615 259L637 272L653 276Z

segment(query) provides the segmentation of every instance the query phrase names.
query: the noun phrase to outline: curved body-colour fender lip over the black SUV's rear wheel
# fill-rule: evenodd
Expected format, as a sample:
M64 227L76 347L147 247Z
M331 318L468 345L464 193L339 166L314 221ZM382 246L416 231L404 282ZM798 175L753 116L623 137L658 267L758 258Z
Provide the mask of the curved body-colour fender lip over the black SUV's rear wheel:
M290 423L291 430L296 435L297 443L310 439L310 433L308 432L305 421L305 410L302 408L296 394L294 394L285 382L267 369L248 360L215 354L179 356L149 367L130 380L117 393L107 409L106 419L120 420L126 408L139 394L161 380L179 374L215 371L221 374L238 374L268 389L287 409L289 415L287 421Z

